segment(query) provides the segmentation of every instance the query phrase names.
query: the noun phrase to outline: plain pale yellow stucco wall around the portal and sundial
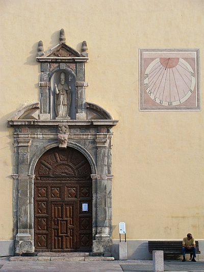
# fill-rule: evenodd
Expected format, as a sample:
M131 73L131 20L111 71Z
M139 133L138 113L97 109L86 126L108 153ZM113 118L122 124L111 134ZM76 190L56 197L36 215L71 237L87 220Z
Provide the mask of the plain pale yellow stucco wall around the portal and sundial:
M139 48L200 48L203 0L1 0L0 240L12 239L13 134L7 119L39 101L38 41L81 50L87 41L86 100L109 111L113 128L113 238L204 236L203 111L139 112Z

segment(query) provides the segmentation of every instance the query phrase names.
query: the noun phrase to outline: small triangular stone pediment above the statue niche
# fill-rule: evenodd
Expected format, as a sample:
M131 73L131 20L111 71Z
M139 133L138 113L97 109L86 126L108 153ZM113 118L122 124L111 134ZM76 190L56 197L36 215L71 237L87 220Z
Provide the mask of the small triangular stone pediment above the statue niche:
M75 57L84 57L82 54L80 54L77 50L73 49L67 44L61 43L57 46L50 49L48 52L45 53L43 56L46 57L57 57L57 58L75 58Z

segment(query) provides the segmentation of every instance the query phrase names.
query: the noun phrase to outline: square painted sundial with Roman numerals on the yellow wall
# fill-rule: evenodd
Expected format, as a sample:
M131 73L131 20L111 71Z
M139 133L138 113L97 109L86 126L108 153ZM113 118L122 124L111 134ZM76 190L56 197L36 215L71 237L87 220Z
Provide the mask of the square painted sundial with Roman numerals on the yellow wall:
M139 110L199 111L199 49L139 49Z

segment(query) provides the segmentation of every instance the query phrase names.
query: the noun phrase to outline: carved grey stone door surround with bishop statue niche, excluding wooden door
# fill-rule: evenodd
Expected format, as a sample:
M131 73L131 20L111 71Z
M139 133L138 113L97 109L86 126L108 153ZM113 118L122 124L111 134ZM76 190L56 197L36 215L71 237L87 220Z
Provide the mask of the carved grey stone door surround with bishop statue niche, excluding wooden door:
M87 43L81 53L60 42L44 52L39 42L40 101L8 120L14 128L13 237L15 255L34 252L34 179L39 158L49 149L73 147L89 161L92 179L92 252L110 255L112 239L112 128L109 112L86 102ZM97 75L96 75L97 76Z

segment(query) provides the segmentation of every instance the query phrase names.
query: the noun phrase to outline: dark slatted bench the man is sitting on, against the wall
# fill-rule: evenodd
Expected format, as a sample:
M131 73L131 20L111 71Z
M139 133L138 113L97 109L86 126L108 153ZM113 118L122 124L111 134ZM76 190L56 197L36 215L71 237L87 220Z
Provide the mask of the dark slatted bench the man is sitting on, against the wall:
M152 254L152 251L163 251L164 254L174 254L182 255L182 244L183 241L148 241L148 250ZM198 241L195 241L196 254L200 254ZM192 252L186 252L190 254L190 259L192 259Z

